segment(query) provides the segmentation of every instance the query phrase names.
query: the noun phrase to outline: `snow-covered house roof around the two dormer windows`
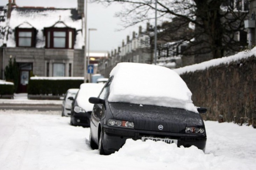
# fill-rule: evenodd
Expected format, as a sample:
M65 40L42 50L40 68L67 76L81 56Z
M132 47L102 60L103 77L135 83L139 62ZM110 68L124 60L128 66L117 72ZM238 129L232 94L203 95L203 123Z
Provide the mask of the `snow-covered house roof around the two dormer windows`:
M7 7L1 7L0 13L3 13L3 19L0 22L0 46L3 43L7 47L15 47L14 30L17 26L20 28L35 28L37 32L36 47L42 48L45 46L45 38L43 36L43 29L48 27L69 27L76 29L75 49L82 49L84 45L83 35L83 21L78 16L76 9L58 9L58 8L36 8L36 7L13 7L10 20L6 18ZM1 14L2 15L2 14ZM28 27L25 27L25 26ZM7 32L8 30L8 32ZM4 35L3 35L4 34ZM6 40L5 40L5 36Z

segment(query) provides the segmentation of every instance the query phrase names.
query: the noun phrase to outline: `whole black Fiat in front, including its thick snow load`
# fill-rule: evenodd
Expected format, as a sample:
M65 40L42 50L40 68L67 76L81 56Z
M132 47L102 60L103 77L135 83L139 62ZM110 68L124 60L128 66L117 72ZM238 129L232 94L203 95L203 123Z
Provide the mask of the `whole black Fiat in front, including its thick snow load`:
M119 63L94 104L90 119L90 145L100 154L119 150L126 139L192 145L205 150L206 131L194 106L192 93L169 68Z

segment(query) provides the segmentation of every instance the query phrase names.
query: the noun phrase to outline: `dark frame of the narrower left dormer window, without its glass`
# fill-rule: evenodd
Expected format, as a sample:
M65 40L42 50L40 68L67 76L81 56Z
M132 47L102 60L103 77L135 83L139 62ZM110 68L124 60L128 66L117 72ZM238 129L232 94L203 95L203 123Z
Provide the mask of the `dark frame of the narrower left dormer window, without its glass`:
M31 44L30 46L20 46L19 41L19 32L31 32ZM36 46L36 29L35 28L15 28L15 40L16 47L35 47Z

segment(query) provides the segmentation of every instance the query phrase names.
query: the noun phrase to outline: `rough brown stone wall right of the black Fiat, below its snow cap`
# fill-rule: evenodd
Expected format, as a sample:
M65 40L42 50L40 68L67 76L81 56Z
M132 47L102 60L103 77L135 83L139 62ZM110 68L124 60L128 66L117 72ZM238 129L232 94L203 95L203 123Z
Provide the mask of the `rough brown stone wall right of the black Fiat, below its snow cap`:
M205 120L256 127L256 58L180 75L196 106L206 107Z

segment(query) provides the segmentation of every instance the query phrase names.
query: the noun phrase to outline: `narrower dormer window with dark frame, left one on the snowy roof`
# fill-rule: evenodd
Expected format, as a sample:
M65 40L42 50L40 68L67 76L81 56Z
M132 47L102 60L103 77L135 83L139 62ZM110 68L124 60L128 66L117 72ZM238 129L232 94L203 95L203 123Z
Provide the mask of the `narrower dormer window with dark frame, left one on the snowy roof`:
M17 47L35 47L35 28L16 28Z

